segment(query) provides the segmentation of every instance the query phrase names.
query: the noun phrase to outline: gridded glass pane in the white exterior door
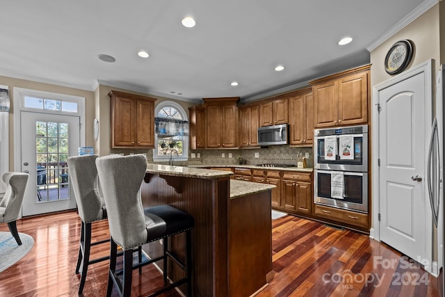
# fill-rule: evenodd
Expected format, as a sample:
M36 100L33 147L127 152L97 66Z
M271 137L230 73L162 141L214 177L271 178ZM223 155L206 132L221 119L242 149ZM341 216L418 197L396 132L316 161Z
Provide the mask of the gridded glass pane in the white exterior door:
M69 198L68 147L66 122L35 122L37 202Z

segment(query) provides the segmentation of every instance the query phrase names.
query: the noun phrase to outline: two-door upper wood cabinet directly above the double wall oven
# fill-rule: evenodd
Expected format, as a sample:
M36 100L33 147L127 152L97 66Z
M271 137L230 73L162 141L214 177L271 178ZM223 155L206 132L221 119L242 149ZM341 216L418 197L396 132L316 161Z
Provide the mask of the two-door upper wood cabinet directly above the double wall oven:
M366 65L310 82L315 127L368 122L370 67Z

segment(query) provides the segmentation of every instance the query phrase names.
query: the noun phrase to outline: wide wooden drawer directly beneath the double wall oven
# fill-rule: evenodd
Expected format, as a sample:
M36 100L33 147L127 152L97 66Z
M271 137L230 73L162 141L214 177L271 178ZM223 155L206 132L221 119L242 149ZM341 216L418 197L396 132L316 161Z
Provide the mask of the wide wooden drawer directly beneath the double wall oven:
M346 223L358 227L368 227L369 216L355 211L347 211L344 209L336 209L334 207L325 207L315 204L315 214L316 216L323 218L337 220L339 223Z

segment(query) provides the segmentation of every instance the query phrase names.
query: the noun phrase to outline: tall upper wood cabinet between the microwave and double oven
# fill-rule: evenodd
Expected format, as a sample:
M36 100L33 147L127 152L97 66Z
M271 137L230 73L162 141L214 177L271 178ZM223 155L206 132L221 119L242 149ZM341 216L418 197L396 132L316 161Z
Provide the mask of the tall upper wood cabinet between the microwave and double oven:
M312 144L314 141L314 100L312 89L289 96L289 143Z

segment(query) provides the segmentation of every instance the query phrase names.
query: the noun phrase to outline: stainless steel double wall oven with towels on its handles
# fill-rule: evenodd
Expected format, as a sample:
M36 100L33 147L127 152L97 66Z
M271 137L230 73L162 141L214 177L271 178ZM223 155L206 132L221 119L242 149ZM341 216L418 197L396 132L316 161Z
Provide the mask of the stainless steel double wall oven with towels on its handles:
M368 126L314 131L314 202L368 213Z

